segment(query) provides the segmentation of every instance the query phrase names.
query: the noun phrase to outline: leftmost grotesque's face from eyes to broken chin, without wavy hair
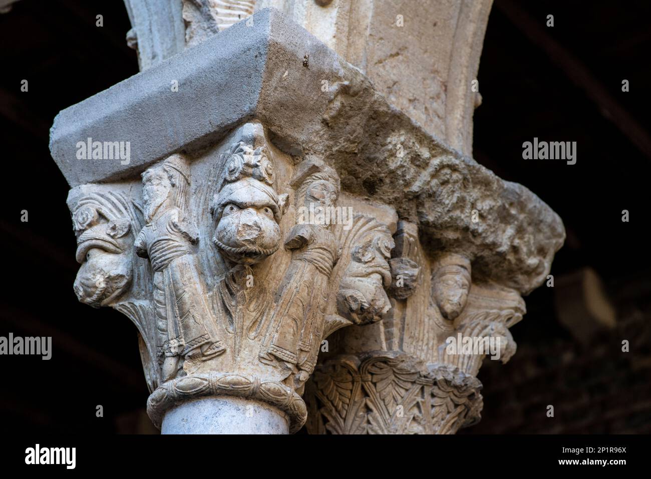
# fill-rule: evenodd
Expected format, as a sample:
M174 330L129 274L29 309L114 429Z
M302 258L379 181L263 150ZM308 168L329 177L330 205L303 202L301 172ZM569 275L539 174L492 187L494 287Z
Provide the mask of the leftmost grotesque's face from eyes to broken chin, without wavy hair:
M105 306L130 287L133 238L125 228L128 231L124 223L111 221L93 226L80 237L83 241L77 247L77 261L81 267L74 290L81 303L96 308Z

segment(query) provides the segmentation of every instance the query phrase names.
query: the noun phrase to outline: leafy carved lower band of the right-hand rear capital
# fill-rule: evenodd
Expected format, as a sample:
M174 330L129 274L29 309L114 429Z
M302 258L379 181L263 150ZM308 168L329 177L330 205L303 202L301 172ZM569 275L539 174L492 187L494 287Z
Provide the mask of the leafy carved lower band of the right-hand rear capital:
M342 355L318 366L309 384L312 434L449 434L475 424L481 383L457 368L399 353Z

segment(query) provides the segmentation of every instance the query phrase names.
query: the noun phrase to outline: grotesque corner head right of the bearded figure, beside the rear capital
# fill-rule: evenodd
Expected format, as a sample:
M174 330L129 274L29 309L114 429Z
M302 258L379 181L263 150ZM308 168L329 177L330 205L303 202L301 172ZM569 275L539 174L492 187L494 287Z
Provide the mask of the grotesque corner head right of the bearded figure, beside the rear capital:
M340 314L356 324L381 320L391 309L385 288L391 286L389 258L395 243L389 228L364 218L367 227L353 243L350 263L339 284L337 306Z

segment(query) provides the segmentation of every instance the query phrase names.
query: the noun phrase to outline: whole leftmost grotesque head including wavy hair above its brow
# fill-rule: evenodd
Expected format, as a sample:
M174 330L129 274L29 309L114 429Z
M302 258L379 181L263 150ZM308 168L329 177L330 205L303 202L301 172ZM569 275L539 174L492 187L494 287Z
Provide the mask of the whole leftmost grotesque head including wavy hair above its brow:
M81 303L100 307L114 303L133 280L133 241L142 220L121 193L90 193L72 212L81 264L74 291Z

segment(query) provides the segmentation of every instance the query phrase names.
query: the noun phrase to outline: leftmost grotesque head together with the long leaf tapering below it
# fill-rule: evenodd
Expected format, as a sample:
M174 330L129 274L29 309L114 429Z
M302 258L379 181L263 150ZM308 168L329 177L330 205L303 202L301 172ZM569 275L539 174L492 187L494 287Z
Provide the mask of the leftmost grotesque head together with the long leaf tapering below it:
M160 381L156 323L148 299L152 272L133 247L144 224L143 208L139 200L114 190L105 185L79 186L68 196L81 264L74 291L82 303L111 306L132 320L152 391Z

